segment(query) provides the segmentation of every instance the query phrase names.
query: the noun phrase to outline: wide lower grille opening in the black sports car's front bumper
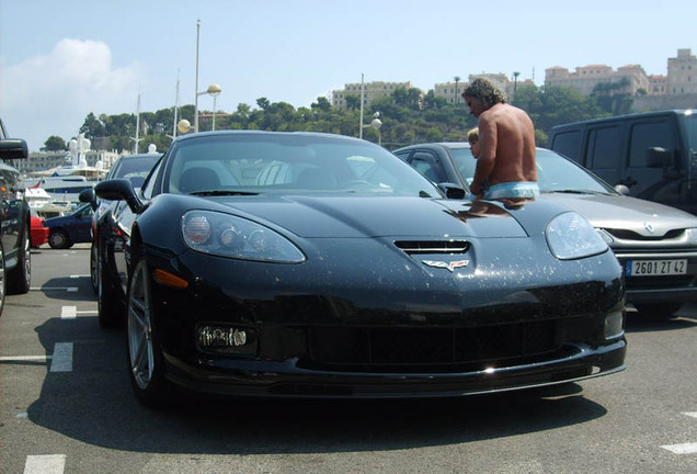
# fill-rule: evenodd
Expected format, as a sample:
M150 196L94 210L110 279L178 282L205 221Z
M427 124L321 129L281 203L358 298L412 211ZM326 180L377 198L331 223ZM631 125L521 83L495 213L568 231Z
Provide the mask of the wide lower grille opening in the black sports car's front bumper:
M457 329L315 327L309 357L312 364L343 370L448 371L553 351L561 346L557 327L556 320Z

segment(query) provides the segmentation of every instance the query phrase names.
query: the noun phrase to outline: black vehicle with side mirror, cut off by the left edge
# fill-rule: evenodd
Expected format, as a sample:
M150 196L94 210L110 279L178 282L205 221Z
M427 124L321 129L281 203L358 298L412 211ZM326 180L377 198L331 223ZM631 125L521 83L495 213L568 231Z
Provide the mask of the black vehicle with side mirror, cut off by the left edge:
M22 176L11 161L4 161L27 156L26 142L8 138L0 120L0 315L5 293L26 293L30 289L30 207Z

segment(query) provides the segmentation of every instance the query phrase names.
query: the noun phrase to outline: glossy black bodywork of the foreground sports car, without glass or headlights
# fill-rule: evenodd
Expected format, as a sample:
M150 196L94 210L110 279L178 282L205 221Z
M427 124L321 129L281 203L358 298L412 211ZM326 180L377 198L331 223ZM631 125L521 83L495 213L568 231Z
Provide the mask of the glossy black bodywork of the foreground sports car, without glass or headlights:
M157 183L158 168L153 173L148 180ZM104 226L117 229L108 236L104 263L114 266L112 278L130 274L142 260L151 269L153 326L165 376L179 385L258 396L444 396L624 369L624 337L603 338L604 315L624 307L620 268L609 251L563 262L541 255L547 224L565 212L557 205L534 202L506 210L492 204L496 215L482 217L467 201L415 196L162 193L148 199L124 180L104 181L95 191L102 199L123 200ZM181 236L181 216L192 208L251 218L289 237L306 261L265 263L194 251ZM470 263L457 272L423 264L442 253L409 255L398 245L453 239L469 245ZM155 269L178 275L187 287L158 283ZM125 284L113 283L125 306ZM253 329L258 353L226 357L198 347L196 328L212 321ZM423 350L443 338L477 338L478 331L499 326L513 331L555 326L556 336L547 356L519 348L506 358L501 353L510 348L503 348L496 360L446 356L404 363L390 357L366 361L363 353L332 359L321 348L342 328L351 329L352 338L393 337L401 349Z

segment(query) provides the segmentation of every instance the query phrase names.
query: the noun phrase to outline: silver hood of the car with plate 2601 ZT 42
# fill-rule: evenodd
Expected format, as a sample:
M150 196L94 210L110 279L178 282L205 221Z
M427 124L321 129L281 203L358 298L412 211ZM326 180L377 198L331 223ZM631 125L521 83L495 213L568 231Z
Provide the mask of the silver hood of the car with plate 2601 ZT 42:
M570 207L597 228L627 229L655 237L673 229L697 227L697 217L689 213L625 195L547 192L542 193L542 200Z

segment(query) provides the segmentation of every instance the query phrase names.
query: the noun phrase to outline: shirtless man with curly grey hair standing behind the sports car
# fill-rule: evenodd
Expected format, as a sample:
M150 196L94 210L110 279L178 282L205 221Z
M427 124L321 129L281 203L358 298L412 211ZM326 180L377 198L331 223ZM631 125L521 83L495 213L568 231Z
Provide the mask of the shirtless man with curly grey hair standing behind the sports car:
M479 157L470 190L478 199L530 199L539 195L535 166L535 127L521 109L485 79L462 93L479 119Z

